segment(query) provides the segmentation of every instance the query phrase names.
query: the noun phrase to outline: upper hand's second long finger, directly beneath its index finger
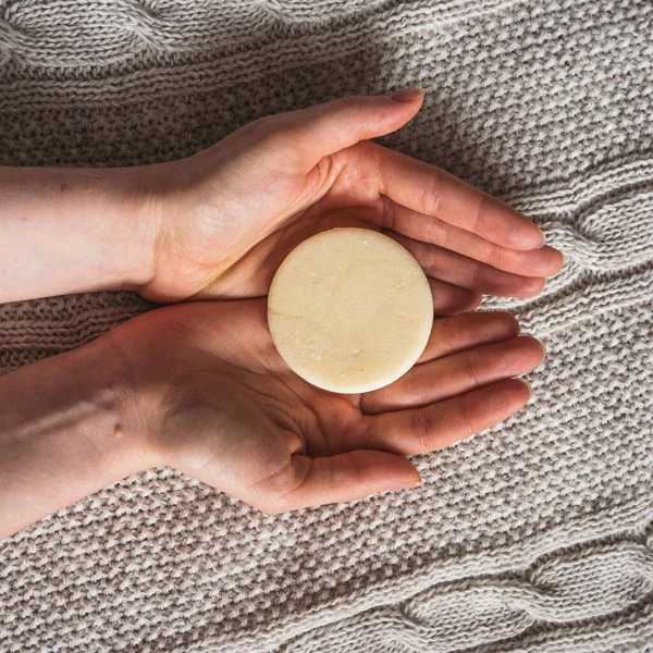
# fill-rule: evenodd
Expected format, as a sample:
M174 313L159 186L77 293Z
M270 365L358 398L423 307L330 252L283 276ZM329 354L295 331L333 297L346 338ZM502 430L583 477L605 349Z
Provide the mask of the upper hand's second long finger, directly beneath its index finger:
M417 241L440 245L498 270L525 276L553 276L565 262L562 252L547 245L528 251L510 249L440 218L414 211L387 197L384 199L383 223Z

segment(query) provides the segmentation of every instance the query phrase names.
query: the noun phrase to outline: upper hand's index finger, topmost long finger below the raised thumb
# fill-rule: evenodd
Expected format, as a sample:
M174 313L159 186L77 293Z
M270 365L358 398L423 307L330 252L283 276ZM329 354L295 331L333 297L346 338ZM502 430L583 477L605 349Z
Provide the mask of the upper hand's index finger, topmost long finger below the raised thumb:
M504 201L441 168L372 145L366 151L379 171L380 192L397 204L512 249L533 249L544 243L542 231Z

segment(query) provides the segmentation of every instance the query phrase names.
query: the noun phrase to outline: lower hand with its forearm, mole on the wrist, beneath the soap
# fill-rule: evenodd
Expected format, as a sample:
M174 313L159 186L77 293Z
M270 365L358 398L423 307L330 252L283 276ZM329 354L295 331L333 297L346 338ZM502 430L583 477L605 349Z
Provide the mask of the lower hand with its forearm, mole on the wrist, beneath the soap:
M542 355L507 313L442 318L395 383L337 395L284 365L263 299L153 310L0 377L0 539L157 466L268 513L415 486L403 456L513 415Z

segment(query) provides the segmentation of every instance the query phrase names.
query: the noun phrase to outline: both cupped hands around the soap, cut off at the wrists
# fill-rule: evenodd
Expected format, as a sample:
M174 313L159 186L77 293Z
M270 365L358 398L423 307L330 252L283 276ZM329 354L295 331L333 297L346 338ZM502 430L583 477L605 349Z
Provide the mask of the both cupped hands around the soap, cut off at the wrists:
M383 230L421 263L435 312L482 294L529 297L560 252L502 201L369 139L421 106L347 97L260 119L183 161L144 169L156 225L156 310L108 335L131 370L148 465L170 465L268 513L419 484L403 456L431 452L509 417L543 349L502 312L438 319L419 364L364 395L292 373L267 323L270 281L298 243L334 226ZM401 98L399 98L401 99ZM231 298L241 298L230 300ZM145 406L145 407L144 407ZM145 452L145 453L144 453Z

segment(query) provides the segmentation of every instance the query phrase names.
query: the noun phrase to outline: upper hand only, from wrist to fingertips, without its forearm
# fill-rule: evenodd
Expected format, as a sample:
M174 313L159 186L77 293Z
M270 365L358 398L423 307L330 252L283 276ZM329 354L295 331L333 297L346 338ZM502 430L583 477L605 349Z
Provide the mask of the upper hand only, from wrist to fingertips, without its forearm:
M409 101L345 97L259 119L187 159L149 167L151 299L261 296L288 251L334 226L384 230L430 278L435 311L481 294L529 297L563 257L527 218L446 172L370 141ZM147 258L147 257L146 257Z

